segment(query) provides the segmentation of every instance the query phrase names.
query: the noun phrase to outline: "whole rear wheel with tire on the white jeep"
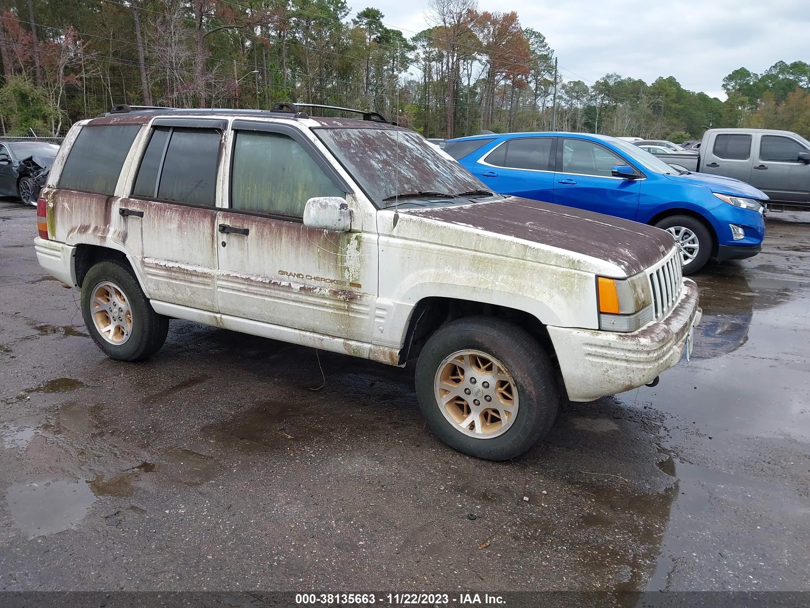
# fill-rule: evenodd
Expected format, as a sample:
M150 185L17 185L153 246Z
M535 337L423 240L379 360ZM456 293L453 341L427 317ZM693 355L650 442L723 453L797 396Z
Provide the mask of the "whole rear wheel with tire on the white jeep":
M152 309L132 269L117 259L99 262L87 272L82 316L96 345L122 361L156 353L168 332L168 317Z

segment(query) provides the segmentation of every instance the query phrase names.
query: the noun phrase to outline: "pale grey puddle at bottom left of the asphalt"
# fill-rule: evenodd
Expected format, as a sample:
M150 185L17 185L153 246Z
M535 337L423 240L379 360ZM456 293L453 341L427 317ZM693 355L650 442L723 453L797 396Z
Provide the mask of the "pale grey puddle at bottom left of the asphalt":
M83 479L15 483L6 491L15 526L28 538L75 528L94 502L96 496Z

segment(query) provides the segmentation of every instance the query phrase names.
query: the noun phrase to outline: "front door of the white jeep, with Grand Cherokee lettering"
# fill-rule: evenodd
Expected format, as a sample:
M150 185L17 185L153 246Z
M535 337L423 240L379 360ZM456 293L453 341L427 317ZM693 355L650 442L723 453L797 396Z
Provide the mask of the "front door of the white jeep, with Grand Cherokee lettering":
M336 232L303 222L310 198L346 198L352 188L294 126L237 120L231 139L229 204L217 221L224 327L246 331L241 319L251 319L370 342L376 227Z

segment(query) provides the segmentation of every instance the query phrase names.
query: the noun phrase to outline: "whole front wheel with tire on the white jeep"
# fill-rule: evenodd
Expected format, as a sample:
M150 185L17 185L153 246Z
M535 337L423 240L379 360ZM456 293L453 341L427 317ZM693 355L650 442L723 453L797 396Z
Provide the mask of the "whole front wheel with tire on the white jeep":
M416 363L430 428L459 452L508 460L551 429L559 396L551 362L513 323L466 317L439 328Z

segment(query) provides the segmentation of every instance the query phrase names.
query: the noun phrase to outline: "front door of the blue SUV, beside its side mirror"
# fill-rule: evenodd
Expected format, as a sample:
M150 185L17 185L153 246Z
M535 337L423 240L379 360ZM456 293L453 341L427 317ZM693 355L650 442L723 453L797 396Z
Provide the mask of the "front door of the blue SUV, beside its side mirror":
M557 144L554 202L635 220L642 180L612 176L613 167L628 164L599 143L561 137Z

